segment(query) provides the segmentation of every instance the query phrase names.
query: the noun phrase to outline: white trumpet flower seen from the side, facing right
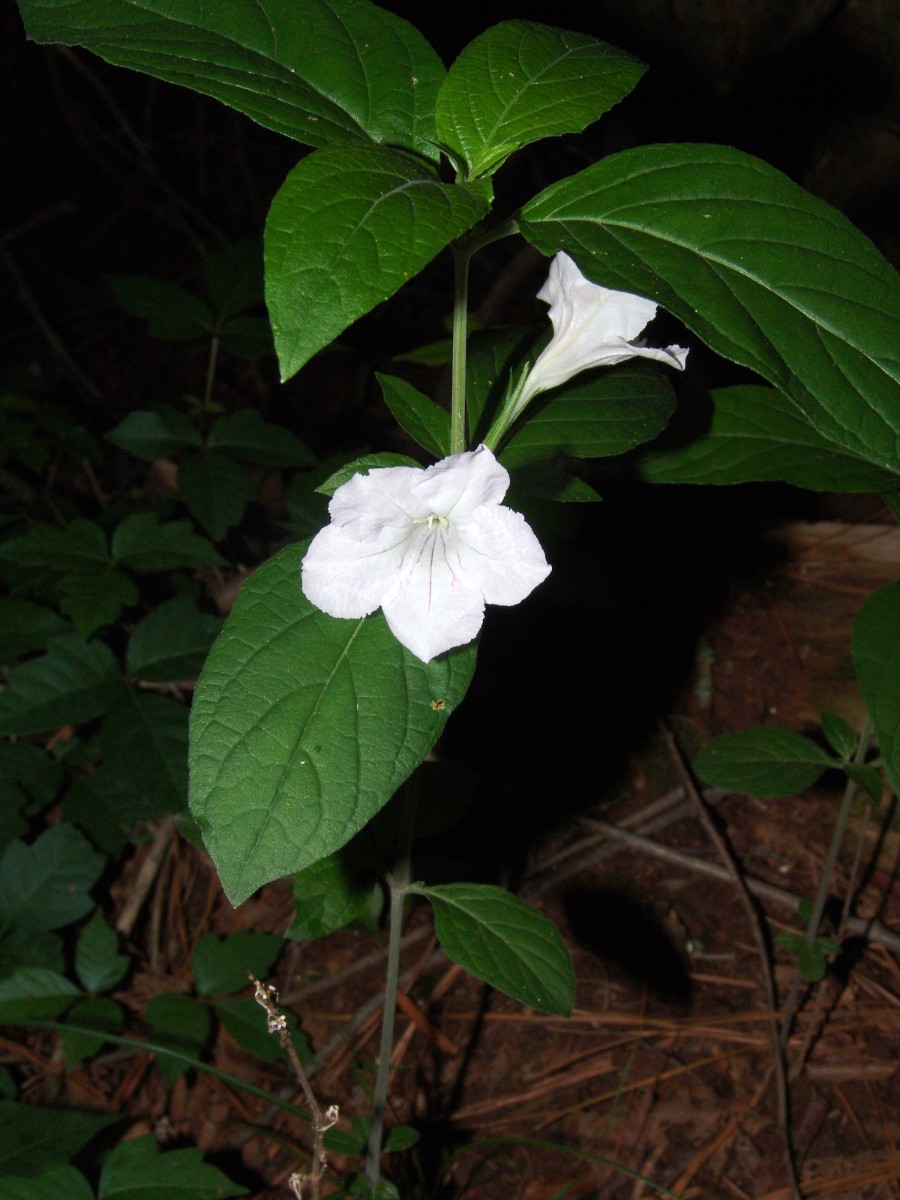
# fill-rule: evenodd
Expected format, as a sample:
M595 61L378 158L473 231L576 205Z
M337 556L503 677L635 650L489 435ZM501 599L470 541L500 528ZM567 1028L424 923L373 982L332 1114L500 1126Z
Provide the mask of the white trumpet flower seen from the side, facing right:
M563 251L550 264L538 299L550 305L553 337L528 372L510 420L515 420L539 391L558 388L589 367L611 367L626 359L642 358L659 359L684 371L688 350L682 346L658 350L635 341L656 316L652 300L592 283Z

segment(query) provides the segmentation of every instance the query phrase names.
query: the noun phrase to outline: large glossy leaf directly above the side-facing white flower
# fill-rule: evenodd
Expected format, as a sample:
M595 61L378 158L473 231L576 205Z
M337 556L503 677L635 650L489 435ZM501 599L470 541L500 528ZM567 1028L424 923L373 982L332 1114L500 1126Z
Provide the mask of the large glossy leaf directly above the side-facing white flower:
M900 281L772 167L726 146L628 150L548 187L520 227L595 282L659 301L822 437L900 473Z

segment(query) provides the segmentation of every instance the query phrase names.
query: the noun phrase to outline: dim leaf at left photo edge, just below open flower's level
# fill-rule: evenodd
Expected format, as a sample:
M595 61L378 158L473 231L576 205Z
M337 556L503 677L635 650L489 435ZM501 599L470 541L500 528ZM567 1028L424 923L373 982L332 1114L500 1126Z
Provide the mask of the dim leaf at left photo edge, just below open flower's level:
M44 733L104 713L121 694L112 650L77 634L54 637L46 654L10 671L0 695L0 733Z

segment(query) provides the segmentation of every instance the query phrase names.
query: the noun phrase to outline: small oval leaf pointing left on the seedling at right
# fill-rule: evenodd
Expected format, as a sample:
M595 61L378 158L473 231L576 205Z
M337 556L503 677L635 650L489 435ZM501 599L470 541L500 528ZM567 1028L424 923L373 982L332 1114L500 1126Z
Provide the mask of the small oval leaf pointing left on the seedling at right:
M694 769L707 782L762 797L793 796L838 766L815 742L776 725L725 733L694 760Z

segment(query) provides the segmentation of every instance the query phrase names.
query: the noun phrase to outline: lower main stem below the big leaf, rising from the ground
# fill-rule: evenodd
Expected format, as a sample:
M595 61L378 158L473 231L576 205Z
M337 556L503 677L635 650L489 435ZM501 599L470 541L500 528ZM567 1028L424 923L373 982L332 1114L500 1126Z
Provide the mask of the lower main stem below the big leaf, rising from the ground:
M382 1043L378 1050L378 1073L372 1096L372 1126L368 1130L368 1147L366 1151L366 1178L373 1190L380 1174L384 1110L388 1102L388 1081L391 1069L391 1050L394 1049L394 1019L397 1012L400 947L403 937L403 901L410 882L410 852L413 848L413 830L415 828L418 800L419 774L416 772L407 781L402 792L400 829L397 832L397 857L394 870L388 876L388 887L390 889L388 974L384 985L384 1016L382 1019Z

